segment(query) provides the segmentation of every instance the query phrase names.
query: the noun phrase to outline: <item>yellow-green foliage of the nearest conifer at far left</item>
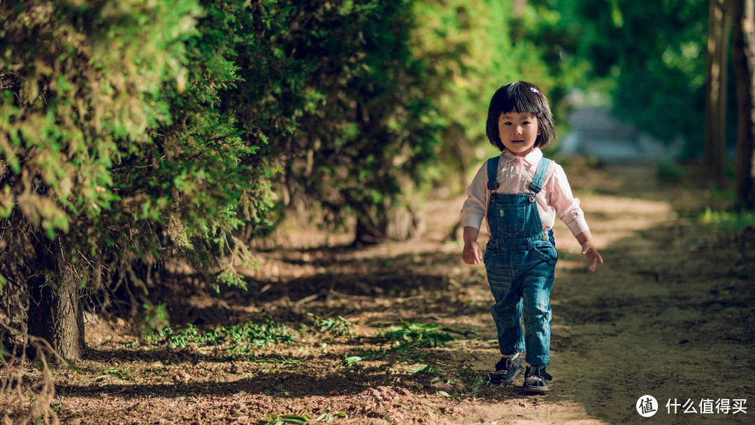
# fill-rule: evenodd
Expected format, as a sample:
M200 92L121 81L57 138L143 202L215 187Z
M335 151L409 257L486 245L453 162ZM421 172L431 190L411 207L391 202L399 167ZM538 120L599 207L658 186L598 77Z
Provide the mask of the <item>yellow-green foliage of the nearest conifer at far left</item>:
M257 168L259 146L218 109L240 81L233 39L218 33L233 16L204 6L0 5L0 205L3 227L20 233L5 244L64 241L85 282L171 253L243 285L233 263L251 253L232 231L262 221L248 214L270 205L271 168ZM37 262L57 255L36 251ZM30 260L4 252L3 263Z

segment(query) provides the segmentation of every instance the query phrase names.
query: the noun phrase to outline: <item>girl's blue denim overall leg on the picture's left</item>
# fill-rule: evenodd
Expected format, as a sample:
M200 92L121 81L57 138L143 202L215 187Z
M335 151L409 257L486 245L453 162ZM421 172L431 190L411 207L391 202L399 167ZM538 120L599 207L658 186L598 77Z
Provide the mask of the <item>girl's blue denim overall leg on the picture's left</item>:
M522 332L522 293L516 285L516 267L504 258L505 252L485 252L488 284L495 299L490 313L498 330L498 347L501 355L510 356L525 350Z

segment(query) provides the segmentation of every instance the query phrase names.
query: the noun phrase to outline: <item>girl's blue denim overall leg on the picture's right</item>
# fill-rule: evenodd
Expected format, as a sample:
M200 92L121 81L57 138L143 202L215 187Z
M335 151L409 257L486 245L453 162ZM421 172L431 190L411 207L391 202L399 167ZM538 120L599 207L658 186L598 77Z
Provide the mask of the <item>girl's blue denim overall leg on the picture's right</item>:
M525 361L533 366L550 365L550 290L553 288L555 263L540 260L522 282Z

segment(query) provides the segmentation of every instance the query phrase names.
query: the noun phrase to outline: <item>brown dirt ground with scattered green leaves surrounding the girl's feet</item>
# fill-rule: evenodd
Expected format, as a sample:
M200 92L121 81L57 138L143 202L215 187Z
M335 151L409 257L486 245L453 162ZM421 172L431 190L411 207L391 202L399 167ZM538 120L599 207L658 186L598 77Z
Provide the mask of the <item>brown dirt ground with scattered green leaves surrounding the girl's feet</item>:
M675 209L699 194L652 175L623 167L572 181L606 264L587 273L577 242L556 228L547 395L521 393L521 379L485 383L499 357L491 296L484 269L443 242L461 206L450 199L425 205L422 238L273 251L249 273L247 293L186 289L170 312L212 328L264 311L293 328L296 343L230 358L211 346L135 344L104 321L89 328L80 372L57 371L61 421L752 423L755 237L721 238L678 219ZM658 400L648 419L635 408L645 395ZM683 413L688 399L697 413ZM733 413L737 399L747 413ZM713 413L701 414L707 400ZM720 400L728 414L716 413Z

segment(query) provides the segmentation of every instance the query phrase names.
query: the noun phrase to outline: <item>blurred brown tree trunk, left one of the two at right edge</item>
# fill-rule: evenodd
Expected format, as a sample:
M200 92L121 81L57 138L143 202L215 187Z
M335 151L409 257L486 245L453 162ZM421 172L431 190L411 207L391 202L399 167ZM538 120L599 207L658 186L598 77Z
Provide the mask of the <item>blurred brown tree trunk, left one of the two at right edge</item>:
M729 51L730 0L710 0L705 98L705 163L716 186L726 168L726 66Z

